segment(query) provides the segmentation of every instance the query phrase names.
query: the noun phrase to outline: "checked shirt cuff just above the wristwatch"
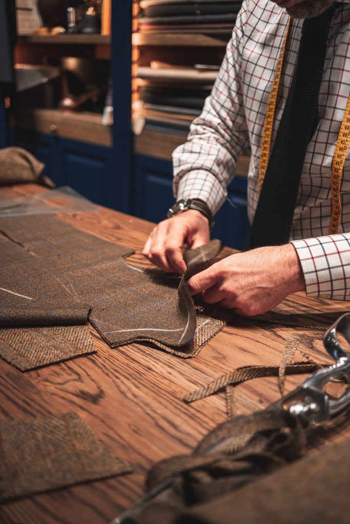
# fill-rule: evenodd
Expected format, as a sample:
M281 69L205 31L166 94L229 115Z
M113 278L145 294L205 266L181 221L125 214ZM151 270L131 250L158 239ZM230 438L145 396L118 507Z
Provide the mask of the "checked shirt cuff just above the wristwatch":
M213 216L227 199L227 191L222 188L217 178L204 170L186 173L178 182L177 194L175 179L174 192L176 200L189 198L203 200Z

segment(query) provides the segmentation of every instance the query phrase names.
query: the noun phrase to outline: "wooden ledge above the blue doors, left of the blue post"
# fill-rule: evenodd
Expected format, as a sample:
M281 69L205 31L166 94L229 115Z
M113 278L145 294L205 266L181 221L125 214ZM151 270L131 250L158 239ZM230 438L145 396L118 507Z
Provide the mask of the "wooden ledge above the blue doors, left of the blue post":
M20 110L10 117L10 125L71 138L100 146L112 146L112 130L101 124L102 115L96 113L65 113L56 109Z

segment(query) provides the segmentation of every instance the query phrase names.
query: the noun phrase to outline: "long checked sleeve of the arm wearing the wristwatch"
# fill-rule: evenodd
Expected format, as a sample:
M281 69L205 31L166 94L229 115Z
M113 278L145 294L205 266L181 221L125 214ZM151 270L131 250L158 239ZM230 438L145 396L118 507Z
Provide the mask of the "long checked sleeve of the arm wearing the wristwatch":
M173 152L175 198L203 200L213 215L227 198L238 157L249 146L239 80L245 19L246 1L203 111L191 124L186 143Z

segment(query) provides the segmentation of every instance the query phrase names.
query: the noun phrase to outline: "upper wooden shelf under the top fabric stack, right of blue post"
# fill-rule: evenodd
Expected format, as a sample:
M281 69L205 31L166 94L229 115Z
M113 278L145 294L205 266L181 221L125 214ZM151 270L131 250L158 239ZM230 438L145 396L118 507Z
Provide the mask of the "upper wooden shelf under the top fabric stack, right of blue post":
M136 32L132 35L134 46L226 47L228 40L221 36L190 33Z

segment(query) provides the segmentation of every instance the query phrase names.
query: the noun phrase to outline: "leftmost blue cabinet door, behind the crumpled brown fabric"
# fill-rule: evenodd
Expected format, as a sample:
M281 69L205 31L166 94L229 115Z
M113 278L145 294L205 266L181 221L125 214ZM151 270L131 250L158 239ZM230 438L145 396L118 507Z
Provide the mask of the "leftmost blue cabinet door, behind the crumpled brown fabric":
M44 133L35 133L27 129L9 128L9 145L23 147L40 162L45 163L44 173L57 185L61 185L59 173L56 170L56 138Z

